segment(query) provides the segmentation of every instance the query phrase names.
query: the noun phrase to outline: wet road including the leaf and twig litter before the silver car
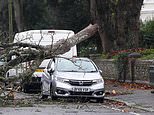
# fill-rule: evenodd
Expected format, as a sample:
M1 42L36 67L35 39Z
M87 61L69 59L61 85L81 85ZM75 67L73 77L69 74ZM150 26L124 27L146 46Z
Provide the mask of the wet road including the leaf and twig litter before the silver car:
M17 93L16 99L7 107L0 107L0 115L153 115L123 103L105 100L94 101L62 99L40 100L38 95ZM24 106L24 107L23 107Z

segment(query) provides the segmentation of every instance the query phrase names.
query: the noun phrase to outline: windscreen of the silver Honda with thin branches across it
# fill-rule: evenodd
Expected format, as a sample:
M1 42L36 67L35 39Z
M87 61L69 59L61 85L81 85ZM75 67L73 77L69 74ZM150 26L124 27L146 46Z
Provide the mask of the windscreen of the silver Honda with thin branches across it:
M59 58L57 60L57 70L62 72L96 72L96 67L89 60L75 59L68 60Z

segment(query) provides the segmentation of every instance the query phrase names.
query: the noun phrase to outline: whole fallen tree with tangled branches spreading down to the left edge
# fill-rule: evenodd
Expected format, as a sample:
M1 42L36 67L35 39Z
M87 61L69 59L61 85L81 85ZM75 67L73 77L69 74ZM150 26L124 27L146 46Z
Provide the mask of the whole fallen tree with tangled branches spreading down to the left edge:
M50 45L50 46L40 46L40 45L33 45L27 43L1 43L0 48L3 49L2 56L4 57L11 57L16 56L16 58L8 61L6 64L0 66L0 100L4 103L5 99L14 99L14 92L18 91L22 86L18 84L14 87L12 84L15 84L15 80L19 80L22 78L26 78L27 76L31 76L36 67L42 62L43 59L52 58L59 54L64 54L65 52L69 51L70 48L88 38L93 36L98 31L98 25L89 25L74 36L62 39L57 43ZM29 68L20 76L14 76L13 79L5 78L5 73L14 66L23 63L23 62L39 62L36 67ZM34 66L34 64L33 64ZM9 84L9 89L6 88L5 84ZM5 93L5 92L8 93Z

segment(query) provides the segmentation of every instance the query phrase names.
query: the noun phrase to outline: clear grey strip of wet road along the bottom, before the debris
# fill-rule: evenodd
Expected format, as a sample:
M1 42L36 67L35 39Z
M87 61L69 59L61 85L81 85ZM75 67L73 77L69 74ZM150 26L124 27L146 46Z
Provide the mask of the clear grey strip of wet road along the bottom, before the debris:
M126 108L125 108L126 110ZM101 103L55 102L52 104L34 104L33 107L0 107L0 115L152 115L123 111Z

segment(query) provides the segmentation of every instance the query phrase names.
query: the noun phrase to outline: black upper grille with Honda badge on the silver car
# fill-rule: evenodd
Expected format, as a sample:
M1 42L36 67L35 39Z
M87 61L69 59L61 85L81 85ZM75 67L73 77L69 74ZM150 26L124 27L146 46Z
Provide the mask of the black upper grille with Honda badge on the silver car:
M68 83L72 86L91 86L93 84L92 80L70 80Z

